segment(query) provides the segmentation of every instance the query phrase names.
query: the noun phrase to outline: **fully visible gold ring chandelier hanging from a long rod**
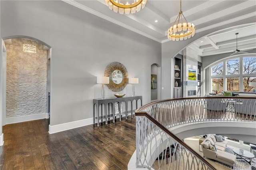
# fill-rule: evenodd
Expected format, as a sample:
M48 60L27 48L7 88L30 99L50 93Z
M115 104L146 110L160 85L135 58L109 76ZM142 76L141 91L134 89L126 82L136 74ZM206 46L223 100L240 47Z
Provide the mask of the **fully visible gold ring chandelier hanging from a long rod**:
M182 16L186 22L183 21ZM187 40L195 35L196 27L194 24L188 22L181 11L180 0L180 12L173 25L168 30L168 39L172 41Z

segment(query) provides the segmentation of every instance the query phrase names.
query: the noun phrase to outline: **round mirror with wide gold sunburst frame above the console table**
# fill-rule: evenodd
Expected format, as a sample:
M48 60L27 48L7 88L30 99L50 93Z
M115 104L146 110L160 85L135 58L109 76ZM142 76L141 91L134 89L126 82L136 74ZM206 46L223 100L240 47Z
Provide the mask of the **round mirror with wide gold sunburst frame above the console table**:
M109 77L106 84L112 91L122 91L128 83L128 73L124 65L118 62L110 63L105 70L104 76Z

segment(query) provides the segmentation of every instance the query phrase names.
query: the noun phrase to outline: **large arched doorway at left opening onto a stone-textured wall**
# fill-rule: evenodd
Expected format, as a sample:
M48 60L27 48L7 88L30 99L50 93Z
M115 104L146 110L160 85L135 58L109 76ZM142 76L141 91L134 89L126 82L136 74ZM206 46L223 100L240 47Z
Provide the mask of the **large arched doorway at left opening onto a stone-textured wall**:
M4 38L1 55L2 125L49 118L51 48L40 40ZM2 126L1 126L2 129Z

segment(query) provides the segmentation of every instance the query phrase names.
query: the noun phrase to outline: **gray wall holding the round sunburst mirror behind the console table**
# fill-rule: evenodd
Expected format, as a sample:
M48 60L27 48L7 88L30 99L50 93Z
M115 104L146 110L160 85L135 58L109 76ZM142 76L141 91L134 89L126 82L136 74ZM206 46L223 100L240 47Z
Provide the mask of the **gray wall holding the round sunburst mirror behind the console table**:
M96 76L114 61L138 77L136 95L150 102L151 65L161 65L161 44L62 1L1 1L1 38L29 36L52 47L51 125L92 118L101 97ZM131 95L132 86L124 93ZM115 92L106 88L106 97Z

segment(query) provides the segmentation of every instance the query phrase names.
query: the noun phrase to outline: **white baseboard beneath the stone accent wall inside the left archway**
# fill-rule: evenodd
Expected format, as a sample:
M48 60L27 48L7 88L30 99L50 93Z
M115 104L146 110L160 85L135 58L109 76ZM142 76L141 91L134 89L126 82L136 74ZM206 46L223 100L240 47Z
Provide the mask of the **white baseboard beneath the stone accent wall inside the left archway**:
M19 123L19 122L26 122L26 121L34 121L37 119L48 119L49 113L42 113L38 115L28 115L28 116L21 116L21 117L10 117L5 119L5 123L12 124L12 123Z

